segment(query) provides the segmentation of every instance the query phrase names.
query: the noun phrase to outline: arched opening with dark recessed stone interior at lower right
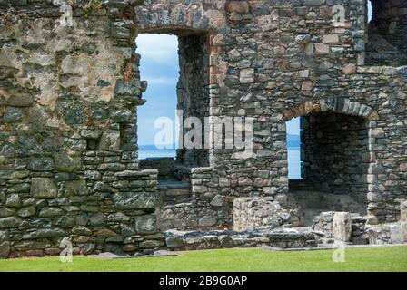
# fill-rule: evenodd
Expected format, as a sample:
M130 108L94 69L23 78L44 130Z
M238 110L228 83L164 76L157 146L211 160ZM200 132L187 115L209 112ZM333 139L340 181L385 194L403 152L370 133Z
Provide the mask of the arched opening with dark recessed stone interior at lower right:
M314 217L327 211L367 214L374 183L370 172L376 158L370 146L370 121L360 113L367 107L334 102L335 110L302 104L288 111L302 116L302 179L290 179L288 203L290 208L300 208L303 226L310 226ZM342 106L346 108L338 109Z

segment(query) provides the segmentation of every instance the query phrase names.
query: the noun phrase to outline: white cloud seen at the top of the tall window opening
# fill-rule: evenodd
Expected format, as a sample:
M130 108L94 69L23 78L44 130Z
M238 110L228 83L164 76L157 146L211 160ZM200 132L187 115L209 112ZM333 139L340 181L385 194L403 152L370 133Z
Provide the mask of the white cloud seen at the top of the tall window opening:
M136 39L137 53L154 63L178 65L174 51L178 50L178 38L168 34L139 34Z

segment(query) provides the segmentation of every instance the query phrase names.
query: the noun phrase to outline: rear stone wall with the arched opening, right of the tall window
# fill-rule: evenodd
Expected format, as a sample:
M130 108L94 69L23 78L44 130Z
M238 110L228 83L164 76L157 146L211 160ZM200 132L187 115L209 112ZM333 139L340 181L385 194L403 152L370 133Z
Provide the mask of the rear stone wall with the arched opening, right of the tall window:
M233 198L287 194L284 121L303 116L316 120L308 135L327 136L308 139L313 144L305 158L311 163L304 169L311 181L320 185L317 176L327 170L321 182L326 194L350 195L361 214L397 220L397 198L405 196L406 185L399 168L405 162L405 80L402 69L364 66L366 3L341 1L346 19L334 25L334 2L230 3L193 8L186 0L154 0L135 8L143 32L209 34L209 115L254 118L253 158L210 150L210 169L192 170L193 200L184 203L185 217L181 203L165 210L191 224L212 216L216 227L232 227ZM336 130L323 128L333 120ZM312 146L329 154L312 155ZM222 207L213 207L217 195Z

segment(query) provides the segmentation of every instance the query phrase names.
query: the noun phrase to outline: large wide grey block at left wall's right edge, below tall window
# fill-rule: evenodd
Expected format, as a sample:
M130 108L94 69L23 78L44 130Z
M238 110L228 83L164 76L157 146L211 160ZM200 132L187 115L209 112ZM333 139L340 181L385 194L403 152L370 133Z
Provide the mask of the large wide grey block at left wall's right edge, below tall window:
M114 205L119 209L156 208L160 204L155 192L120 192L113 196Z

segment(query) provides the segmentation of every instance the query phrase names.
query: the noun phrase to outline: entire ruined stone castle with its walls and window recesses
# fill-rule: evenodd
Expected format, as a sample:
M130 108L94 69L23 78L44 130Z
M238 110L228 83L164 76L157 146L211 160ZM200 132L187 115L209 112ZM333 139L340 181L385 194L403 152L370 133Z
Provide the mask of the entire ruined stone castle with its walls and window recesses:
M367 7L0 0L0 256L405 242L407 1ZM253 155L138 159L147 33L179 38L184 118L253 118Z

